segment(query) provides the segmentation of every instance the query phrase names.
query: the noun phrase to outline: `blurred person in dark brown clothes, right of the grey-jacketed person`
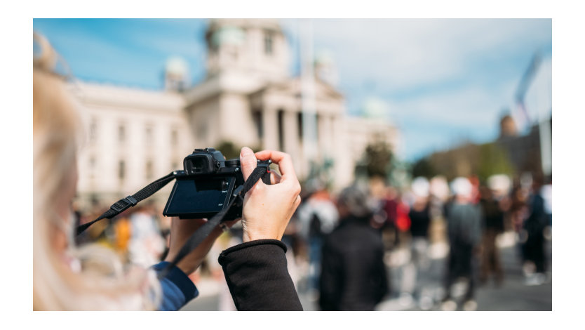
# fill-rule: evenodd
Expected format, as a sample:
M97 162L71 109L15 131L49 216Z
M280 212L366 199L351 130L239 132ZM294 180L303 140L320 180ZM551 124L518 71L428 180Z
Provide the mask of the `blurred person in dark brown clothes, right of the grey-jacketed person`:
M483 219L482 258L480 283L485 284L488 276L493 273L498 285L504 281L504 270L499 260L499 251L496 246L497 235L504 232L504 211L500 203L494 198L492 190L482 185L480 187L480 202Z

